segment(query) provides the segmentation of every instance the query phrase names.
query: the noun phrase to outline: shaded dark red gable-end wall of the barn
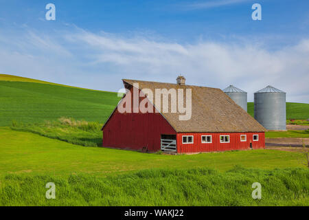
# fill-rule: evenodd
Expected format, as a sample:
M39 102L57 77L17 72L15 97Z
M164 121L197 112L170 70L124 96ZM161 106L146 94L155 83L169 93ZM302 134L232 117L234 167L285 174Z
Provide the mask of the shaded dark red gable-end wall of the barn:
M133 96L133 90L130 91ZM152 108L154 113L119 113L116 109L103 128L102 146L134 150L147 147L148 151L159 151L161 134L176 135L176 131Z

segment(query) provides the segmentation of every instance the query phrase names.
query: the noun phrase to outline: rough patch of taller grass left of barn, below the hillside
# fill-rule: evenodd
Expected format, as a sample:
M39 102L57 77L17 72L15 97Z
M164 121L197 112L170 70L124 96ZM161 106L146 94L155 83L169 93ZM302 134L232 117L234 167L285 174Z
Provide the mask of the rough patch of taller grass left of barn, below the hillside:
M87 122L65 117L61 117L57 121L35 124L12 121L11 126L11 129L16 131L28 131L82 146L102 146L101 128L100 122Z

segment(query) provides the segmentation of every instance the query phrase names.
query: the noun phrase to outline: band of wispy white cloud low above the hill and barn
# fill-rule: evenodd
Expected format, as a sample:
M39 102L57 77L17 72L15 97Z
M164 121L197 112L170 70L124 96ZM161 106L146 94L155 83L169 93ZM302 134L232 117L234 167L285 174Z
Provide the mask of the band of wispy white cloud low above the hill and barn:
M0 32L0 72L91 89L117 91L121 78L187 83L253 92L273 85L288 101L309 103L309 39L280 50L262 45L200 41L181 44L74 29L62 34Z

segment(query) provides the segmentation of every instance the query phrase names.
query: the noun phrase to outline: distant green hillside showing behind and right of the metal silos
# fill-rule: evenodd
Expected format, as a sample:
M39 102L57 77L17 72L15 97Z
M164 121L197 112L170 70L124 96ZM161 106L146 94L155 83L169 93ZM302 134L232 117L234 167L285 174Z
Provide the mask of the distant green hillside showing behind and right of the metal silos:
M248 102L248 113L254 117L254 103ZM286 102L286 119L308 119L309 104Z

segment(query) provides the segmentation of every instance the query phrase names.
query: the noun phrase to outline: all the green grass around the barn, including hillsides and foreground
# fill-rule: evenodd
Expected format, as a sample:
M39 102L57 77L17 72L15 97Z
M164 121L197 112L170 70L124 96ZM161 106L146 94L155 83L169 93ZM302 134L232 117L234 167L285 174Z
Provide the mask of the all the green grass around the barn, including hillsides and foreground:
M0 206L309 206L302 153L84 147L101 145L100 128L117 94L3 74L0 94ZM294 104L288 111L305 117L307 105ZM51 181L56 199L47 200ZM255 181L262 200L251 198Z

